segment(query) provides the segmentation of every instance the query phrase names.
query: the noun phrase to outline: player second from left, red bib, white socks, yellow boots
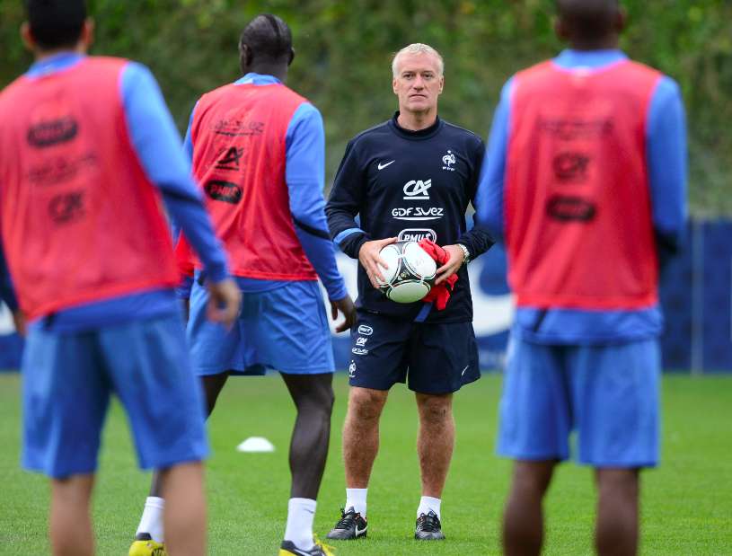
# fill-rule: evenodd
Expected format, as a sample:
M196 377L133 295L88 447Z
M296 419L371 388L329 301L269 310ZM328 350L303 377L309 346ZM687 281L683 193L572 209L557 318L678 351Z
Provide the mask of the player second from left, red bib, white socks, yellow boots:
M315 499L328 455L335 368L331 331L318 286L345 331L355 317L336 267L322 197L325 139L320 112L284 84L295 57L287 23L265 13L244 28L243 76L204 94L190 117L185 148L216 234L243 292L243 310L226 331L206 319L206 270L178 244L181 269L195 269L188 334L194 371L210 413L231 375L277 369L297 408L292 472L280 554L330 553L313 541ZM163 542L163 499L154 481L137 529ZM137 544L139 546L139 544ZM133 545L130 554L135 552Z

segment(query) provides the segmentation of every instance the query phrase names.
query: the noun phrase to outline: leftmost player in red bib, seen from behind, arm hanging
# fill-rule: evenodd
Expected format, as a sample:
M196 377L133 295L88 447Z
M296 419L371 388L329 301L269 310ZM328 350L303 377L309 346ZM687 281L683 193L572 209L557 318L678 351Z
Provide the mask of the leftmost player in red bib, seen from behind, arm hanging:
M206 266L208 316L233 322L240 293L153 75L85 55L84 0L26 6L35 62L0 93L2 244L28 319L22 464L51 478L52 552L93 554L89 500L116 394L140 465L163 477L172 552L202 556L208 447L161 197Z

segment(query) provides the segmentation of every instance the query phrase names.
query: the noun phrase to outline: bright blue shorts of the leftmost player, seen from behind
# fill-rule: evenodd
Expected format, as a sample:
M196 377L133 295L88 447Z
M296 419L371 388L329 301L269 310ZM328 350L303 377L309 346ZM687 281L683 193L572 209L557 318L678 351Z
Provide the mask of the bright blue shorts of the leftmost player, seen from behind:
M144 469L208 454L205 411L180 314L84 332L29 332L22 362L22 465L55 478L97 468L115 393Z

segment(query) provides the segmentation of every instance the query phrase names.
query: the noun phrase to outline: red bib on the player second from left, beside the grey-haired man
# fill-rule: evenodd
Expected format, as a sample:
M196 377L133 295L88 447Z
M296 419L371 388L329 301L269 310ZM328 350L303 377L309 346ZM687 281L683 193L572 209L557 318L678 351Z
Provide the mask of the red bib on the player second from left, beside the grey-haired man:
M193 173L236 276L316 278L295 234L286 182L287 130L305 102L278 82L244 81L205 94L194 111Z

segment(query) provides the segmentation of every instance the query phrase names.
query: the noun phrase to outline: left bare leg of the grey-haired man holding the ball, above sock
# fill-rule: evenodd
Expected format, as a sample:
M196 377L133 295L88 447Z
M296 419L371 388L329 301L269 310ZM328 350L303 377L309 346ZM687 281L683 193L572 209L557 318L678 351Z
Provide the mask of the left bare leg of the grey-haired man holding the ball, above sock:
M348 489L366 489L379 451L379 418L389 392L352 386L343 425L343 462Z

